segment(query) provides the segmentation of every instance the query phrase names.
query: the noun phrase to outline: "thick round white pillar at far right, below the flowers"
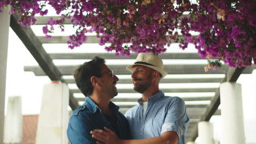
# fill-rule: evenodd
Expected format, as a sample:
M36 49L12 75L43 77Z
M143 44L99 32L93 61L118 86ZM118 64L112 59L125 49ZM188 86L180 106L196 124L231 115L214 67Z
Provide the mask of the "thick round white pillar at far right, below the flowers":
M220 85L220 103L222 104L223 142L225 144L245 144L241 84L222 83Z

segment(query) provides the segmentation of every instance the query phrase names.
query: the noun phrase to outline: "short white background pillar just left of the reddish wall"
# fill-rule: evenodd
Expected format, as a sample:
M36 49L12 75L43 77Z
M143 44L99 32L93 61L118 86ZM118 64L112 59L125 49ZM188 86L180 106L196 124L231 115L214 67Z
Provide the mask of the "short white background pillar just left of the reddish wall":
M4 123L4 143L22 141L21 97L9 97Z

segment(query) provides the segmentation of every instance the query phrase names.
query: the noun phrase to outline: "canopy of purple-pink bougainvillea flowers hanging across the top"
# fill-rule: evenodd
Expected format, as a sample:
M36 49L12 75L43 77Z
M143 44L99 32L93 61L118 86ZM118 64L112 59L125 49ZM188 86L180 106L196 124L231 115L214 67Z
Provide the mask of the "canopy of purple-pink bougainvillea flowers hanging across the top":
M21 15L24 26L36 22L35 14L45 15L45 5L51 5L60 19L50 19L43 27L45 38L51 38L54 25L64 31L69 20L77 29L69 36L68 47L82 45L86 33L96 32L100 45L116 55L132 52L161 54L166 46L179 42L182 49L195 45L202 58L208 58L208 68L216 69L220 61L230 67L256 64L255 11L253 0L30 0L0 2L11 5L11 13ZM198 35L191 35L197 32ZM182 37L181 37L182 35ZM107 43L110 43L107 44Z

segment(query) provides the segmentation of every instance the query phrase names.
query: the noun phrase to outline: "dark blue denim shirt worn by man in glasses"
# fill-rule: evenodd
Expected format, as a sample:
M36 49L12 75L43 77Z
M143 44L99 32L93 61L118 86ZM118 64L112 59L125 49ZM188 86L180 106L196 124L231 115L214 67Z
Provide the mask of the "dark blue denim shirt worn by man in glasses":
M129 140L130 130L126 118L118 111L119 107L111 101L109 102L109 107L117 117L119 138ZM85 103L75 109L70 117L67 129L68 140L72 144L94 144L96 140L91 137L90 131L94 129L104 129L104 127L113 130L101 109L99 109L90 97L86 97Z

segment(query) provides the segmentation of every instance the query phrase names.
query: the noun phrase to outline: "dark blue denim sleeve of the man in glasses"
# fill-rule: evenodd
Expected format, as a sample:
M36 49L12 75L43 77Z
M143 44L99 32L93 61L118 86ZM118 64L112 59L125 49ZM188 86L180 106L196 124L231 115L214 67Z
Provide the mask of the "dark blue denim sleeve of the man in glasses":
M88 124L86 118L80 115L74 115L70 118L67 136L71 144L84 144L84 143L96 143L95 139L92 139L90 131L93 130L92 126Z

